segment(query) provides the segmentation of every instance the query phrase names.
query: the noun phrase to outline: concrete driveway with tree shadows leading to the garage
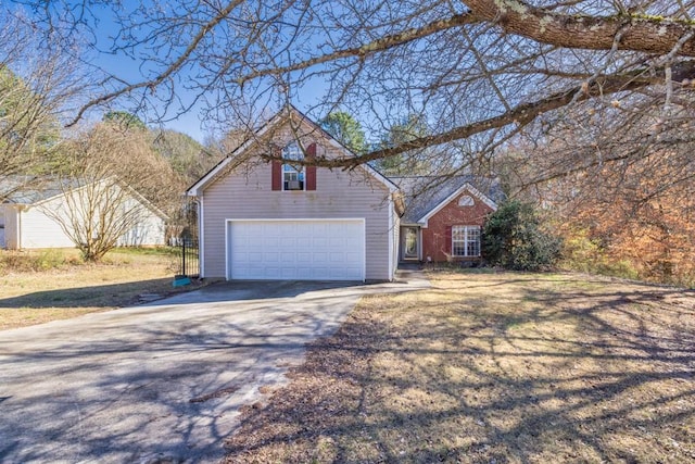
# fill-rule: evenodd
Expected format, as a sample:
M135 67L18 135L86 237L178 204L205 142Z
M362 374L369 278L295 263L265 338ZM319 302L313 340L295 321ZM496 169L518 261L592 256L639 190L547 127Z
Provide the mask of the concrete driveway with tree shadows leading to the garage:
M239 407L280 385L359 297L396 283L225 283L0 331L0 462L211 462Z

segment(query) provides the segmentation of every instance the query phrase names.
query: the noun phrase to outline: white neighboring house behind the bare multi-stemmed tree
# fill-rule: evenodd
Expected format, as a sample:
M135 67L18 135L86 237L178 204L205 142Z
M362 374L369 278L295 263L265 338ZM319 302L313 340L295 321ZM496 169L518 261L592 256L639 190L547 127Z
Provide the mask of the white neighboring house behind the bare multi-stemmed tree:
M97 185L97 184L94 184ZM41 189L15 191L0 204L0 248L10 250L37 248L72 248L75 246L65 227L71 221L58 221L68 213L70 202L81 201L80 189L90 186L66 187L58 181L47 183ZM166 216L135 190L113 184L109 188L119 191L119 208L123 211L136 209L137 221L121 236L118 246L157 246L164 244ZM123 195L125 192L125 195ZM117 211L117 209L116 209Z

